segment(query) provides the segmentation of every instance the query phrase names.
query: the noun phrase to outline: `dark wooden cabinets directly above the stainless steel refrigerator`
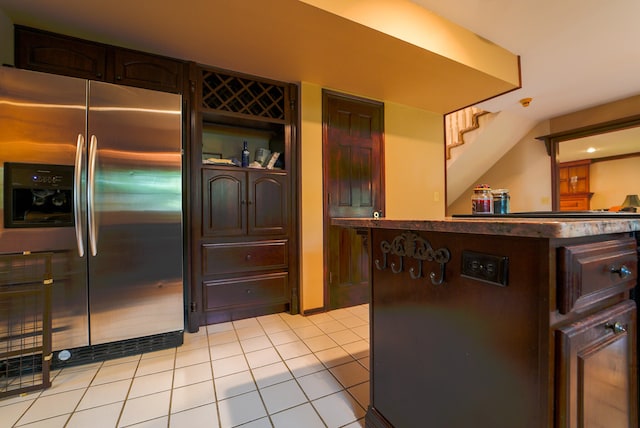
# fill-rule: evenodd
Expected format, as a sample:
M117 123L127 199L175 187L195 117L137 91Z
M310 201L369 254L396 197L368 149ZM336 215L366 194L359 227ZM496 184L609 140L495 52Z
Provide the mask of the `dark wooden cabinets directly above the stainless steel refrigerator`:
M164 92L183 92L186 63L146 52L15 26L16 67Z

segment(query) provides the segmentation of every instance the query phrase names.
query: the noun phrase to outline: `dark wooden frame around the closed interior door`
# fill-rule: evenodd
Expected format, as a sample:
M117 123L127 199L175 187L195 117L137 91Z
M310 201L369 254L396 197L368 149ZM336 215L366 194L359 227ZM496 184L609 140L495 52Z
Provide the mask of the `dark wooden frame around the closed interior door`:
M328 269L328 261L329 261L329 226L331 219L329 218L329 203L328 203L328 193L327 193L327 171L328 166L327 162L329 162L329 144L328 144L328 129L329 129L329 100L330 99L341 99L345 101L354 101L358 103L369 104L371 106L380 107L382 109L382 120L380 123L380 131L381 131L381 146L380 146L380 206L382 207L383 212L386 212L386 179L385 179L385 127L384 127L384 102L376 101L369 98L359 97L356 95L346 94L343 92L338 92L330 89L322 89L322 286L323 286L323 310L327 310L330 302L329 295L329 269Z

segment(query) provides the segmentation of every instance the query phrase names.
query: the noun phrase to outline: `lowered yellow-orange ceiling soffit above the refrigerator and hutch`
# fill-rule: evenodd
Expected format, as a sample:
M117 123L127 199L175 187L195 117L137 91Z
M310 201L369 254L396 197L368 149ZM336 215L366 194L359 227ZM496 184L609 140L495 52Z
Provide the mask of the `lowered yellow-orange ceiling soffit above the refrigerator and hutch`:
M0 9L15 24L439 113L520 83L517 56L408 0L0 0Z

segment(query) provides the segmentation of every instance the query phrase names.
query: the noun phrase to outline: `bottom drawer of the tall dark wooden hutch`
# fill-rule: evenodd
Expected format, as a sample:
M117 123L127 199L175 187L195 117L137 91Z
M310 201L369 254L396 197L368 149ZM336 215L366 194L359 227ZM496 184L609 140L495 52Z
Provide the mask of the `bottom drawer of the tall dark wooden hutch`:
M207 281L204 283L206 310L286 302L288 278L286 272L280 272Z

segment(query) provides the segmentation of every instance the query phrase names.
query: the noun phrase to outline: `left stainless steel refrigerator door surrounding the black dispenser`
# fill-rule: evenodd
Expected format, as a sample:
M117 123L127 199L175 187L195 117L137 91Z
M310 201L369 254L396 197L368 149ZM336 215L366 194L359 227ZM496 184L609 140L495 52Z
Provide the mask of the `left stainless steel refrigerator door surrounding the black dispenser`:
M0 253L52 251L53 349L89 344L86 259L78 255L73 225L7 228L4 210L10 190L6 162L74 167L78 135L86 130L85 80L0 67ZM82 156L82 154L80 155ZM79 159L82 163L82 158ZM84 186L82 170L77 185ZM83 191L75 186L80 207ZM25 214L26 216L26 214ZM83 222L78 209L74 220ZM0 314L0 322L10 322Z

